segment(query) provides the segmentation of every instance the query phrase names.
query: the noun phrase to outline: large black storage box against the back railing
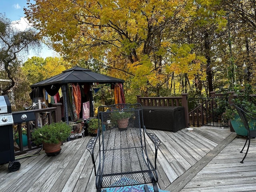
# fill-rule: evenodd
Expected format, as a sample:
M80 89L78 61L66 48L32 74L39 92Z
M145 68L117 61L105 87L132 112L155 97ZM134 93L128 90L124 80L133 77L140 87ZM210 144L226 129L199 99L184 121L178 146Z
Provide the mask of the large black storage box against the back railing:
M142 106L147 129L177 132L186 127L184 107Z

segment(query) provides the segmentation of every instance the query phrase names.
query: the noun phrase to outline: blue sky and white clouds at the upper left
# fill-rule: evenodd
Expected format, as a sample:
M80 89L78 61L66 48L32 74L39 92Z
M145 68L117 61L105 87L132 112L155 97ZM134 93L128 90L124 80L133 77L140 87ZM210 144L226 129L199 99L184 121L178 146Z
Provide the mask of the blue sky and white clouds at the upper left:
M33 0L31 0L33 3ZM27 7L26 0L0 0L0 13L5 13L6 17L13 21L13 23L19 22L19 24L15 24L17 28L20 30L26 29L28 27L28 21L26 20L23 8ZM28 58L32 56L37 57L55 57L58 56L56 52L50 50L45 44L42 44L42 50L38 53L30 50ZM26 59L25 59L26 60Z

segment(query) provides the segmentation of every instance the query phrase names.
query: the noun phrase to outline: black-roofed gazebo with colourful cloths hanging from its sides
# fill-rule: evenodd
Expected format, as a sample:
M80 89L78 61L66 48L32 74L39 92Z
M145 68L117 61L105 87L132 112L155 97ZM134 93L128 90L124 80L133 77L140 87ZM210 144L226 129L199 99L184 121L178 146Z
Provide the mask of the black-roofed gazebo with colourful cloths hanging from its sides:
M36 84L32 84L30 87L32 88L32 92L40 92L45 90L46 94L50 96L55 96L60 92L63 95L63 112L65 121L68 123L68 117L70 111L77 110L79 108L79 98L80 105L82 108L82 94L87 95L87 99L90 103L90 111L92 109L92 90L90 85L92 84L112 84L113 88L118 88L115 90L115 102L124 103L124 93L123 93L123 83L124 80L98 74L92 72L89 69L81 68L75 66L68 70L63 71L61 74L38 82ZM82 91L80 90L82 88ZM71 91L70 91L71 90ZM45 96L45 94L44 94ZM33 96L31 96L33 98ZM74 105L78 101L78 106ZM75 109L76 108L76 109ZM80 109L81 109L80 108ZM76 111L79 117L80 112ZM91 115L91 113L90 113ZM77 118L77 117L76 117ZM76 119L75 118L75 119Z

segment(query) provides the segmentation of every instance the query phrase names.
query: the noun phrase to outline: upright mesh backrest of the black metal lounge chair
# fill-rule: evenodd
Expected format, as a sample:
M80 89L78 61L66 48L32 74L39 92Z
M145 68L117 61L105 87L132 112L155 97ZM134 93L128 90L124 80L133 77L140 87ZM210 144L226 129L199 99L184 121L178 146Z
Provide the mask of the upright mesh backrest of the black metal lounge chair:
M107 110L101 111L101 107L98 108L98 118L102 125L103 152L123 148L145 148L140 104L116 104L103 107Z

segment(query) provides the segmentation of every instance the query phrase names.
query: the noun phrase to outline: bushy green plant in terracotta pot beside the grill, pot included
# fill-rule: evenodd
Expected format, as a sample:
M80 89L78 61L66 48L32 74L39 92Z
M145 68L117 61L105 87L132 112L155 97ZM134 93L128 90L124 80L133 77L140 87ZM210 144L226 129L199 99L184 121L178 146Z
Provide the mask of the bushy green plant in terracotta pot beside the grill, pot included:
M42 128L38 128L32 132L32 138L35 144L43 144L43 148L46 154L60 153L61 142L66 140L71 134L71 126L65 122L51 123L50 125L44 125Z

